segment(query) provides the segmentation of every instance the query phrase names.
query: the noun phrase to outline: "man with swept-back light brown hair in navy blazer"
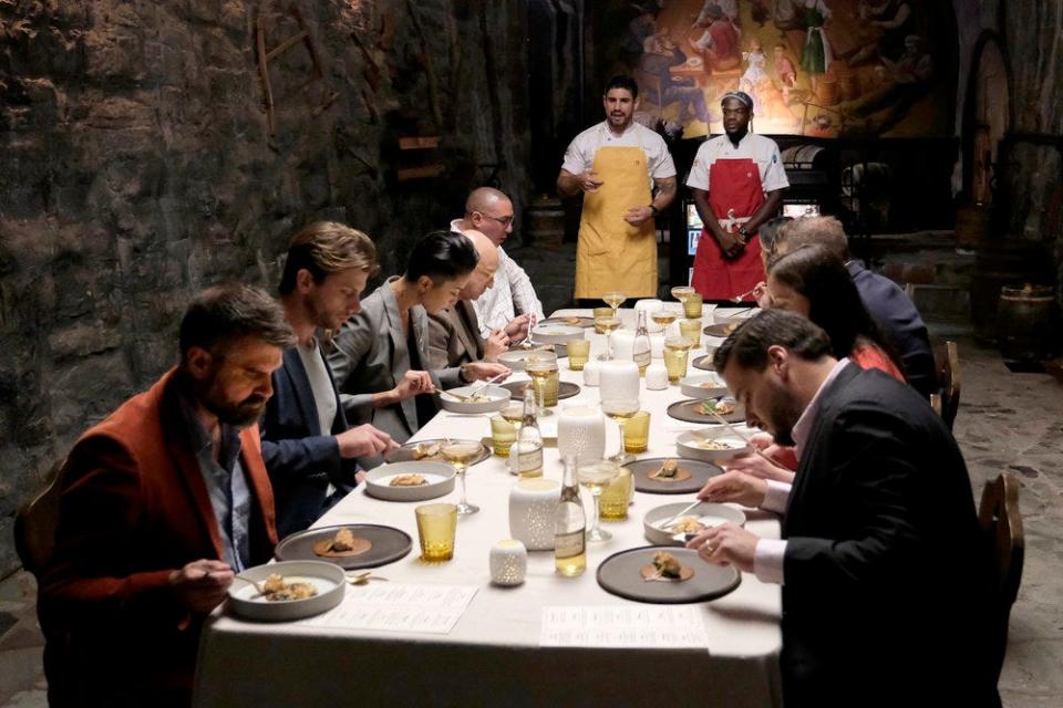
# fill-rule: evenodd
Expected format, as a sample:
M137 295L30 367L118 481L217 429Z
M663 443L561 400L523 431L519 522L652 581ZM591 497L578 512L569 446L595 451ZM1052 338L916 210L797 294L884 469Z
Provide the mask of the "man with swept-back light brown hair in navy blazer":
M298 344L274 373L274 396L260 425L281 538L309 527L358 483L354 458L395 447L372 425L349 428L317 339L361 310L375 268L369 237L331 221L307 226L288 249L279 291Z

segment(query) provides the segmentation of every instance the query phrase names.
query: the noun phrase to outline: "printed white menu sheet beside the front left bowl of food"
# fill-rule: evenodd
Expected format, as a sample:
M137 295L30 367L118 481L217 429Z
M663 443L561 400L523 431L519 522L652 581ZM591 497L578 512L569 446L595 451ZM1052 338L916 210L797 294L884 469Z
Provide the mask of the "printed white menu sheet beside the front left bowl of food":
M334 610L305 624L330 629L450 634L476 590L475 585L404 583L350 586Z

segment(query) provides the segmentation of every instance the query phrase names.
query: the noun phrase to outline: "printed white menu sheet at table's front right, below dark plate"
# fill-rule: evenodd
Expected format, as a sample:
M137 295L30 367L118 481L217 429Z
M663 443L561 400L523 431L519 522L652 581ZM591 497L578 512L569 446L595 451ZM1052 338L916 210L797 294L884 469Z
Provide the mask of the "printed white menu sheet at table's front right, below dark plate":
M539 646L708 649L709 636L694 606L548 605Z

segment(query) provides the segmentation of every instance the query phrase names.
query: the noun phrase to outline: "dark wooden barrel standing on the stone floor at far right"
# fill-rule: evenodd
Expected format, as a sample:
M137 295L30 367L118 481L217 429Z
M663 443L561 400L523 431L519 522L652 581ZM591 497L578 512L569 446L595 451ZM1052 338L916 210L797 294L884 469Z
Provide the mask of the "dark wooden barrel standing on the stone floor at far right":
M1060 353L1060 309L1052 288L1001 288L997 321L1005 361L1044 362Z

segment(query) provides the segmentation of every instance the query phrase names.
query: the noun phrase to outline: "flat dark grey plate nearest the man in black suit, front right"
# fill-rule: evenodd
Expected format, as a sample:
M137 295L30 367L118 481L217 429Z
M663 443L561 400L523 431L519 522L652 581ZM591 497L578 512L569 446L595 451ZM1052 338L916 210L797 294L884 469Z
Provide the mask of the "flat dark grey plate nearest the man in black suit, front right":
M639 570L653 562L653 554L668 551L681 564L694 571L694 576L681 583L661 583L642 580ZM598 584L602 590L637 602L679 605L723 597L742 583L737 569L705 563L698 551L662 545L646 545L613 553L598 566Z

